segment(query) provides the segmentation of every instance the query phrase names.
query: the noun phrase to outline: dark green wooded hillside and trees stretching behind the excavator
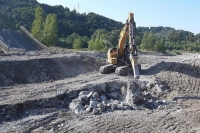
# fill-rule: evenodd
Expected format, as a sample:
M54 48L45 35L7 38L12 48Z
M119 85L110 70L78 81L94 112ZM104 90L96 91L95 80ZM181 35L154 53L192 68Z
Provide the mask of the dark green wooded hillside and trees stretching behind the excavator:
M78 13L61 5L40 4L37 0L0 0L0 3L1 29L17 30L23 25L47 46L106 51L118 45L124 26L92 12ZM141 50L200 51L200 34L170 27L137 27L135 42Z

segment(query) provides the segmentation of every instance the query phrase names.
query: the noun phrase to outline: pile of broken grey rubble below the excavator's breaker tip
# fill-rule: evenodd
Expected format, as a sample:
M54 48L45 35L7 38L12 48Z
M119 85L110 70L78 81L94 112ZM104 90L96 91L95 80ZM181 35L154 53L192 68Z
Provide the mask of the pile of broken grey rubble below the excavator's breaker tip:
M166 100L158 99L158 95L168 91L166 85L158 80L142 83L133 80L117 89L105 86L103 89L80 91L69 108L76 114L93 112L94 115L114 110L154 109L166 104Z

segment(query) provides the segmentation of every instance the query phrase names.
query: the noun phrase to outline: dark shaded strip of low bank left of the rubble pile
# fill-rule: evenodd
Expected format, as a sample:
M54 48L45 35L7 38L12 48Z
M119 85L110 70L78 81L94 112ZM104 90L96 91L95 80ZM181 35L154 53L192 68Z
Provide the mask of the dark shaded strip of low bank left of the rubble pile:
M22 103L0 105L0 124L7 121L16 121L22 117L44 115L68 109L71 99L67 95L51 98L27 100Z

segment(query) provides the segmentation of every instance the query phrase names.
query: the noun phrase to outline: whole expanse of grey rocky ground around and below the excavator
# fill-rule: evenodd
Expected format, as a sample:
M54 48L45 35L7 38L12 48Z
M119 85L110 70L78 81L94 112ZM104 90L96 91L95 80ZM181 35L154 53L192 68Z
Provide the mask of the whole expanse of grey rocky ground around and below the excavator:
M132 74L92 52L0 56L0 132L200 133L200 55L141 53ZM138 100L139 99L139 100Z

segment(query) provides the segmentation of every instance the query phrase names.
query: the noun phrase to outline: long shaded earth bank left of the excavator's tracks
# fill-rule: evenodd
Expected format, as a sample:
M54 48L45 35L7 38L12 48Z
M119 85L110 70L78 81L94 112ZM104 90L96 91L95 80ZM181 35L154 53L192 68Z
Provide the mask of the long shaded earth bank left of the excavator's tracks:
M88 56L65 56L0 61L0 86L54 81L98 70L99 61Z

